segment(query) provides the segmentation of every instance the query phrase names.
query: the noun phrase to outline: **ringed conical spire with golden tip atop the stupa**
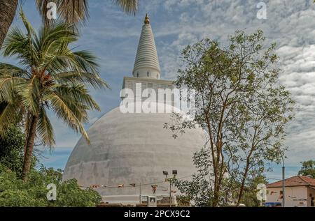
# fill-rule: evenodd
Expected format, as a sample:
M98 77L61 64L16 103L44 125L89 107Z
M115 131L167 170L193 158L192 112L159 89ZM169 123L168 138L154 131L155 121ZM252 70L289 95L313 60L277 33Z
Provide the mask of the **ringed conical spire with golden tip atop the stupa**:
M160 79L161 70L158 52L155 47L153 31L148 14L144 18L138 45L136 61L134 62L134 77Z

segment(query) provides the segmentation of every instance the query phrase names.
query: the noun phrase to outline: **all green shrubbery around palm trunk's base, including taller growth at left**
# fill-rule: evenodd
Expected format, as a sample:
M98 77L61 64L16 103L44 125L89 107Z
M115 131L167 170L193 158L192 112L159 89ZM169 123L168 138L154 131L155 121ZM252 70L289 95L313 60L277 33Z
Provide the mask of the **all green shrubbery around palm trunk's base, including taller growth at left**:
M23 164L25 135L18 126L11 125L0 139L0 206L95 206L101 198L94 190L82 190L76 180L62 183L62 170L34 169L29 180L20 179ZM46 198L48 183L57 186L57 201Z

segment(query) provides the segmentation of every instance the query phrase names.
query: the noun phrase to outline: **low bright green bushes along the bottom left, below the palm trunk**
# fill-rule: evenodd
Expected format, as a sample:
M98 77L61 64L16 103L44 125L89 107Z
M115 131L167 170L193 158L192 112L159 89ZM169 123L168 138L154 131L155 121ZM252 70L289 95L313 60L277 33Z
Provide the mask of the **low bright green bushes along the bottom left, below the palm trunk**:
M57 200L48 201L47 185L57 186ZM62 182L62 171L32 169L27 182L16 173L0 165L0 206L95 206L102 198L94 190L82 190L76 180Z

